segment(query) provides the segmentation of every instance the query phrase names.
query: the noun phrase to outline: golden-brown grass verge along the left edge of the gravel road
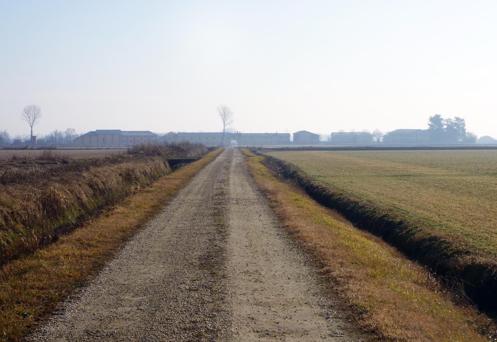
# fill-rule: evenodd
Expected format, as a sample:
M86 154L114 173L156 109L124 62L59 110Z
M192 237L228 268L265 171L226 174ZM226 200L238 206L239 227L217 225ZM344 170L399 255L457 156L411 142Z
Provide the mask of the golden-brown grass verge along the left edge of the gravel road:
M0 270L0 341L21 341L222 149L172 172L58 242Z

